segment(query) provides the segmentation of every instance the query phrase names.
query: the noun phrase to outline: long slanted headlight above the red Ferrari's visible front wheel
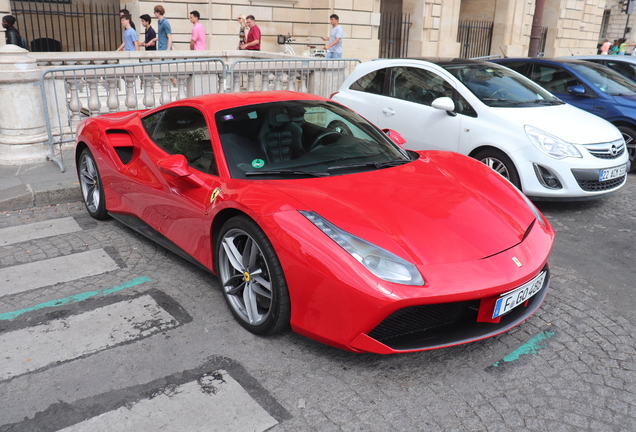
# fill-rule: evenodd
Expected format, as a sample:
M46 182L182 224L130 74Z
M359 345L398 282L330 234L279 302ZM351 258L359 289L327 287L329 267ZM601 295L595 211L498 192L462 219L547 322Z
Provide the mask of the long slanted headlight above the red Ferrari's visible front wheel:
M301 211L300 214L380 279L403 285L424 285L422 275L410 262L341 230L314 212Z

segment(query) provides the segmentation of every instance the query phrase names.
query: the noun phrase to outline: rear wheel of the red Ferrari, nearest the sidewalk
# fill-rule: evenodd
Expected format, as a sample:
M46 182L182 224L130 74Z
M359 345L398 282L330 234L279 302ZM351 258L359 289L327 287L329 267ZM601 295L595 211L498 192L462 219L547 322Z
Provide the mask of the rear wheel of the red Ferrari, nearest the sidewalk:
M95 158L88 148L85 148L80 154L77 177L88 214L94 219L108 219L102 178L99 175Z

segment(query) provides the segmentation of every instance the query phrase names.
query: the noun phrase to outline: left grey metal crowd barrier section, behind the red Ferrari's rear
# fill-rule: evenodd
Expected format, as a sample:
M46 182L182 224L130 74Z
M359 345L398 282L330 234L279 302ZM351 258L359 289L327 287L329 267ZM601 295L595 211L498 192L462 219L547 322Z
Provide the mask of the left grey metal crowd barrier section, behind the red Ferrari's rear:
M62 144L75 140L75 128L83 118L223 93L225 77L225 63L218 58L47 69L40 78L50 146L47 159L65 171Z

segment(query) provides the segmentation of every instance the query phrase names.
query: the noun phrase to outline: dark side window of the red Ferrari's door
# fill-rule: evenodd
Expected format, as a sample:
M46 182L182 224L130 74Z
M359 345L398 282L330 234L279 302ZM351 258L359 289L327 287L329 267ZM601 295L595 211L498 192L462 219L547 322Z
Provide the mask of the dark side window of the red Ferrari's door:
M182 154L188 164L205 173L218 175L210 132L203 114L190 107L170 108L143 119L146 132L169 154Z

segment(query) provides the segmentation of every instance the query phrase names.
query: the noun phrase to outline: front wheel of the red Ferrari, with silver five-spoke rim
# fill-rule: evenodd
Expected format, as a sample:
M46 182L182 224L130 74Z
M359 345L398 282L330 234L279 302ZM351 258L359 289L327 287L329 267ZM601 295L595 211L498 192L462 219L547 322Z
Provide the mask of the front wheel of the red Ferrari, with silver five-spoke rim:
M257 335L287 328L287 282L263 230L247 216L236 216L223 225L217 239L215 267L225 301L237 321Z

